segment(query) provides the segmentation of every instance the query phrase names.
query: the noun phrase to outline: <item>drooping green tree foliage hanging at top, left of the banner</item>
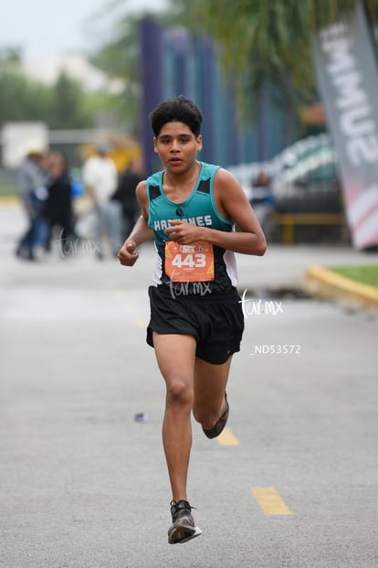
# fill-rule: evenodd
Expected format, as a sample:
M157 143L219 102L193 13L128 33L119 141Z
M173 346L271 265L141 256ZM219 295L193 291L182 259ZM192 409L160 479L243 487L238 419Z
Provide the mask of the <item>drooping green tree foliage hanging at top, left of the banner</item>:
M315 30L348 16L356 0L172 0L177 17L216 40L240 102L268 81L295 102L314 95L310 40ZM366 0L372 22L378 0ZM247 106L247 105L246 105Z

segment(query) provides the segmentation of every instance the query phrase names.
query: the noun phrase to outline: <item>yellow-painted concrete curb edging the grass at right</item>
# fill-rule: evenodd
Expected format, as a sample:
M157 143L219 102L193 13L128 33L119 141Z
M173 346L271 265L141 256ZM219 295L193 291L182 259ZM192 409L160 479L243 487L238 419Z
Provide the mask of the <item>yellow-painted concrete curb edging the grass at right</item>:
M322 266L309 266L306 277L310 294L357 301L378 309L378 288L354 282Z

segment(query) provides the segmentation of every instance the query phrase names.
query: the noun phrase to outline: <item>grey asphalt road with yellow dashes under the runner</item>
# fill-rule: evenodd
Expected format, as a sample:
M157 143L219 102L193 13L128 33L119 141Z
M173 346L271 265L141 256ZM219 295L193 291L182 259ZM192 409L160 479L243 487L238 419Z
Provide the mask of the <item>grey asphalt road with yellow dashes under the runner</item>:
M0 566L378 565L378 316L261 293L299 282L307 263L371 259L316 247L240 257L246 334L228 437L194 423L203 535L171 546L163 380L145 344L152 247L133 269L98 262L90 243L19 262L22 226L0 209Z

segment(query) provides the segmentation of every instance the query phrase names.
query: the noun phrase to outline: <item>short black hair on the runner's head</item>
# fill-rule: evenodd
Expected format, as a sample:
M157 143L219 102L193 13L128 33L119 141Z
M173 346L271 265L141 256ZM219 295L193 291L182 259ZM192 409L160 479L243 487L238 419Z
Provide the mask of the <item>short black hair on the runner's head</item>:
M190 99L180 95L176 99L163 101L150 113L152 131L155 136L160 134L166 123L184 123L197 138L201 134L202 113Z

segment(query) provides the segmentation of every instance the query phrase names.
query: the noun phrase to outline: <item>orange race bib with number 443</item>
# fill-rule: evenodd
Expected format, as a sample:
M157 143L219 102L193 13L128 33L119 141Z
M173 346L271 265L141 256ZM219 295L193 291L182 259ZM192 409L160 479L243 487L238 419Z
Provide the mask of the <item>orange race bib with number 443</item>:
M214 280L213 245L206 241L193 244L165 242L165 273L172 282Z

